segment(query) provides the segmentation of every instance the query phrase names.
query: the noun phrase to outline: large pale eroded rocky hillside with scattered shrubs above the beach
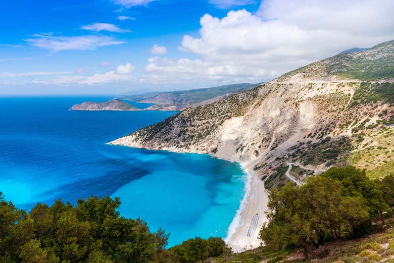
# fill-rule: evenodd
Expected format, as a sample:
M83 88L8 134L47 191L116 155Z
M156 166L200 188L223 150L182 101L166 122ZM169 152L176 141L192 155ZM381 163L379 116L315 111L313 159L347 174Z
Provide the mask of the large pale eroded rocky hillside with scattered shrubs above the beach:
M386 153L386 163L366 166L363 153L386 143L383 138L393 141L393 64L394 41L338 55L252 90L192 106L111 143L210 153L253 163L265 178L290 162L316 171L346 164L373 170L394 162L394 153ZM384 147L384 152L394 149ZM272 186L278 184L267 187Z

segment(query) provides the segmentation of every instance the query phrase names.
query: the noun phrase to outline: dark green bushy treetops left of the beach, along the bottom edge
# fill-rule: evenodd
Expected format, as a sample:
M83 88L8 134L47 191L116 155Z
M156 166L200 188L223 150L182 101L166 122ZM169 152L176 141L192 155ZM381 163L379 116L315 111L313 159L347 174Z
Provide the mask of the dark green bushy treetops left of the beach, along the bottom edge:
M194 238L166 249L169 235L119 215L119 198L90 197L76 206L38 203L29 213L0 193L0 262L198 262L225 250L220 238Z

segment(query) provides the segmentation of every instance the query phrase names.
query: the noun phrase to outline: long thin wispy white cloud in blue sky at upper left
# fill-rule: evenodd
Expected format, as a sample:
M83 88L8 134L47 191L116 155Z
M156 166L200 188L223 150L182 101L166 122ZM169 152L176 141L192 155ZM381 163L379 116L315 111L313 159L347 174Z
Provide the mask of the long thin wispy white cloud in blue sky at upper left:
M115 40L110 36L85 35L85 36L52 36L38 35L34 38L25 39L30 45L51 50L54 52L63 50L87 50L107 45L119 45L124 41Z

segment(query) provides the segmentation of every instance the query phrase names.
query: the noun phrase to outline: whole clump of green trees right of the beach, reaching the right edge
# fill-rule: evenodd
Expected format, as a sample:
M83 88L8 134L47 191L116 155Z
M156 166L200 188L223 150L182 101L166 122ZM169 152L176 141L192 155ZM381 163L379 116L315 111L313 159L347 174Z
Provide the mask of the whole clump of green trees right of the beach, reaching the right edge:
M295 246L306 258L319 257L315 249L327 239L370 234L375 219L384 224L393 193L392 175L372 181L354 167L331 168L299 188L288 183L272 189L260 238L273 251Z

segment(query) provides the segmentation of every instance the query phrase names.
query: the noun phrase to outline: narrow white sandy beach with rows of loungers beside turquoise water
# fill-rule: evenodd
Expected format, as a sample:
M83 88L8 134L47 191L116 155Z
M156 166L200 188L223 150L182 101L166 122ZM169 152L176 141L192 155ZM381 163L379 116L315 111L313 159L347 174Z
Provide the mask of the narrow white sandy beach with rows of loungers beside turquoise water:
M260 180L258 174L253 170L253 165L252 167L245 164L241 165L245 172L249 174L250 188L249 192L245 192L245 196L240 203L237 214L231 222L228 231L230 232L230 228L234 222L238 221L238 225L235 228L234 233L225 238L226 244L232 248L233 252L236 253L257 248L261 245L261 241L258 239L258 236L261 227L265 222L267 222L267 217L264 212L268 209L268 193L264 187L263 181ZM258 218L256 214L258 214ZM237 217L239 219L237 219ZM251 228L253 219L255 219L256 222L256 227L252 227L252 229L255 229L254 235L248 236L248 231Z

